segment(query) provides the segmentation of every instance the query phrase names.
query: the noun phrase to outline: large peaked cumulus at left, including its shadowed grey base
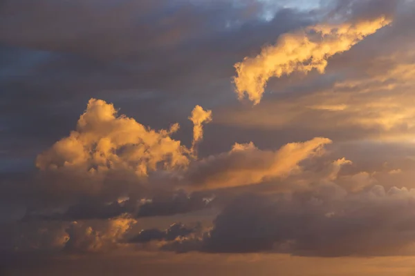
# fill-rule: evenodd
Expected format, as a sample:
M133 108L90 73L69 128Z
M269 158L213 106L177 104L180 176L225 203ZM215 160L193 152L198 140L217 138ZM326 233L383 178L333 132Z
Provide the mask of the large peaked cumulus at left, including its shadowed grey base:
M172 139L178 128L154 130L118 115L111 103L91 99L76 130L37 156L39 174L28 188L38 196L31 204L73 205L80 199L107 204L151 194L160 179L181 172L194 158ZM158 185L151 186L149 177Z

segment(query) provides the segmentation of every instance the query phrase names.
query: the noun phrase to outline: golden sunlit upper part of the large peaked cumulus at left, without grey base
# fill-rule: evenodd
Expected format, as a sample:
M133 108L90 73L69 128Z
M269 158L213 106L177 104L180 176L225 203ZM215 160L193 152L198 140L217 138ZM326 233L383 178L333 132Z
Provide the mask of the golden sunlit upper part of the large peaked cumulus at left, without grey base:
M76 168L91 173L111 168L148 175L162 166L165 170L187 166L188 150L170 135L178 130L152 130L136 120L118 116L111 103L91 99L77 121L77 130L57 141L37 157L41 170Z

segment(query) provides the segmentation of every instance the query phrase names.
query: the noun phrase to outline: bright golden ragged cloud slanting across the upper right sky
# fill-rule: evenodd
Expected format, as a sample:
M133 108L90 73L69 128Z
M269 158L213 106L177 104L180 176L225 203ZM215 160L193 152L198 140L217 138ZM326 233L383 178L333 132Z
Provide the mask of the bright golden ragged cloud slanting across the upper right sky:
M257 104L271 77L313 69L323 73L330 57L349 50L389 23L389 19L378 17L357 23L320 24L284 34L274 46L264 47L257 57L246 57L234 65L237 70L235 92L239 99L247 95L250 101Z

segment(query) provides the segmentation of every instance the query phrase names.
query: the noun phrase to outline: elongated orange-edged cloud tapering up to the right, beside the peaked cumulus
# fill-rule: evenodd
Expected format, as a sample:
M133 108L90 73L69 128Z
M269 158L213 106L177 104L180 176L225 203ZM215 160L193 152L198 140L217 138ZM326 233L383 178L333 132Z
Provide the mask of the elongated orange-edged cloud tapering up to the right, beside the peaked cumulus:
M286 177L299 162L322 154L326 144L331 140L322 137L286 144L279 150L259 150L252 142L234 144L229 152L191 164L183 180L196 190L259 184Z

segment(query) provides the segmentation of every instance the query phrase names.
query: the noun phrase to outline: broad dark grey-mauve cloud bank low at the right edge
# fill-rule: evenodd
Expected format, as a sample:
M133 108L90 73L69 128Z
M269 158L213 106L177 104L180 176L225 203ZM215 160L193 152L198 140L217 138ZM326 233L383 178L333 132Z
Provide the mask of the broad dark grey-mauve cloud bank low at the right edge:
M339 190L340 186L324 185L292 196L244 195L216 217L203 239L165 248L322 257L415 254L415 190Z

